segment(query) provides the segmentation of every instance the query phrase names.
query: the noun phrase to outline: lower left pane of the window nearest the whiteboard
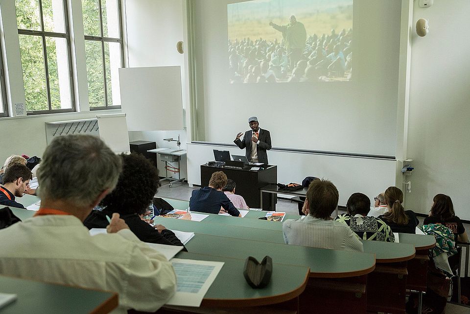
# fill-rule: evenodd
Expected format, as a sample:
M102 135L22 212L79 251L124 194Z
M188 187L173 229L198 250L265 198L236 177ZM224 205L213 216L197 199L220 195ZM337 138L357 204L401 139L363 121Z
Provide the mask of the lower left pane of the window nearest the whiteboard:
M101 42L86 40L85 50L87 53L88 73L88 98L90 107L104 107L104 73L103 73L103 50Z

